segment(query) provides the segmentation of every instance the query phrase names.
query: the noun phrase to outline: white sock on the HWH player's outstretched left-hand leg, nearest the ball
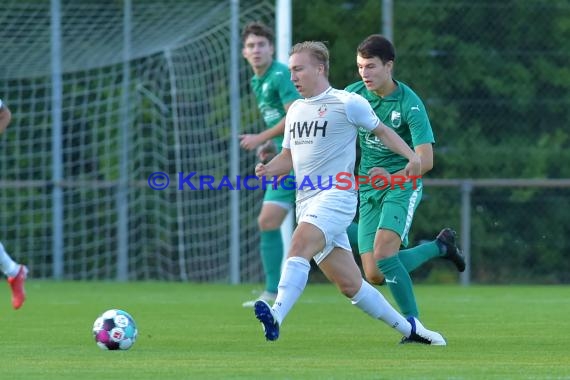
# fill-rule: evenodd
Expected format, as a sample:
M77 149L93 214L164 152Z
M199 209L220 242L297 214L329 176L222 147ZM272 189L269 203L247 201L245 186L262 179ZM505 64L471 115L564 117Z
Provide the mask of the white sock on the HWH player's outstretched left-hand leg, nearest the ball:
M311 264L302 257L290 257L285 261L285 267L277 287L277 298L273 304L275 317L279 324L283 322L303 293L309 280L310 270Z

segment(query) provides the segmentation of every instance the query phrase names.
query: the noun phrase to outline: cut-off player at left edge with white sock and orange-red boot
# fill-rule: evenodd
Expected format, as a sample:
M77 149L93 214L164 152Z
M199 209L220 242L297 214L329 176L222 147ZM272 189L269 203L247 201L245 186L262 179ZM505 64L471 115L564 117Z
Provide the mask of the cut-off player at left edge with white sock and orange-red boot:
M0 133L4 132L6 127L8 127L11 118L10 110L0 99ZM12 260L10 255L4 250L2 243L0 243L0 270L8 277L8 284L12 289L12 306L14 309L19 309L26 300L24 282L26 281L28 268Z

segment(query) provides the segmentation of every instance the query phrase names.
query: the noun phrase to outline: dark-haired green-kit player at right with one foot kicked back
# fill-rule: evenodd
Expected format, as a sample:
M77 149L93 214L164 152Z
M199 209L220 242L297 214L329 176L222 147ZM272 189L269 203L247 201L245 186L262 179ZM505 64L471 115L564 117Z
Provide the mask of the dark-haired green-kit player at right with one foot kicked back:
M395 49L381 35L371 35L357 49L358 73L362 81L346 90L362 95L380 120L392 128L421 158L422 176L433 167L435 142L430 121L419 96L407 85L392 78ZM360 129L361 161L358 174L402 175L406 160L394 154L369 131ZM358 246L366 278L375 284L386 282L406 317L418 317L409 272L426 261L442 257L462 272L465 261L456 245L456 233L443 229L437 238L411 249L408 233L422 198L422 180L389 185L378 190L372 184L359 188Z

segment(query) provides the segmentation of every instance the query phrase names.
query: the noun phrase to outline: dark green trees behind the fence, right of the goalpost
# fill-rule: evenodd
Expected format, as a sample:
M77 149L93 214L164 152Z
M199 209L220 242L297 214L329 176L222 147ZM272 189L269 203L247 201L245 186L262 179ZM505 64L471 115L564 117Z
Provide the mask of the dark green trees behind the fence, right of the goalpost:
M293 43L328 41L331 83L344 88L381 11L294 1ZM424 100L436 135L427 178L570 178L569 1L393 1L393 40L394 76ZM475 281L570 282L570 189L477 187L471 201ZM426 186L413 240L459 229L459 209L458 188Z

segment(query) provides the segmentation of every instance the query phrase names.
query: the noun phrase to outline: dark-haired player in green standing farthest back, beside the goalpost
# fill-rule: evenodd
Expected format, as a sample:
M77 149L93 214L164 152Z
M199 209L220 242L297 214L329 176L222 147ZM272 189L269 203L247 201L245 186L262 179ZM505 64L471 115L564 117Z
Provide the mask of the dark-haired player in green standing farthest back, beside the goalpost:
M286 65L273 59L275 51L273 31L260 22L248 23L242 32L243 57L253 69L251 88L267 129L258 134L240 136L244 149L258 149L262 162L281 149L285 114L289 106L301 96L289 77ZM275 150L275 152L272 152ZM283 238L281 224L295 204L295 190L268 188L257 219L261 232L261 261L265 274L265 290L260 298L272 302L277 295L277 285L283 261ZM255 300L247 301L244 307L253 307Z

